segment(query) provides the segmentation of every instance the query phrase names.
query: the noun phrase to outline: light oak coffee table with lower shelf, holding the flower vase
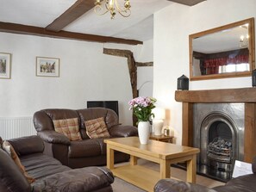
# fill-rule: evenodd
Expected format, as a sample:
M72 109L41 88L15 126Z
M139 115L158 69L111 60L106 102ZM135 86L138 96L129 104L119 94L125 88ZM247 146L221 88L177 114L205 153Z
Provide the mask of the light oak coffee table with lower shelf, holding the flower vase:
M178 146L171 143L149 140L141 145L138 137L104 139L107 144L107 167L116 177L132 183L141 189L153 191L154 185L162 178L170 178L170 165L187 162L187 182L196 183L197 153L199 149ZM114 151L130 155L130 163L115 167ZM159 164L160 171L150 170L137 164L137 158Z

